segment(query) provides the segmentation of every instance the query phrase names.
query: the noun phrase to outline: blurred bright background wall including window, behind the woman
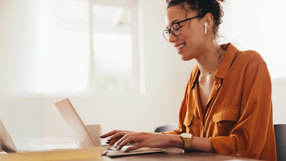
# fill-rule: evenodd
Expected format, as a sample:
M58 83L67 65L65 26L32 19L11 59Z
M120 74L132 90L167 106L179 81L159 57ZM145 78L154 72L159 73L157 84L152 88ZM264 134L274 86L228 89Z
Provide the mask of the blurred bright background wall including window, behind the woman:
M263 56L274 124L286 124L279 27L285 2L222 5L224 42ZM0 118L17 148L40 149L43 137L72 136L54 106L64 98L85 124L102 123L104 133L177 123L196 63L181 61L164 39L166 6L163 0L0 0Z

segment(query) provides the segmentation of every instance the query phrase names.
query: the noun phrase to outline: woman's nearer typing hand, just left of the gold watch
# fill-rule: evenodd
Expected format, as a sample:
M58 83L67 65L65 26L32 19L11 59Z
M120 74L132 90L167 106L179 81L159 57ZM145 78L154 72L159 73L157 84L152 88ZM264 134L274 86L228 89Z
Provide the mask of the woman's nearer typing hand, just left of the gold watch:
M120 150L129 142L136 142L137 145L128 147L124 152L139 149L141 147L157 147L163 148L168 146L168 135L162 133L129 133L123 136L115 145L116 150Z

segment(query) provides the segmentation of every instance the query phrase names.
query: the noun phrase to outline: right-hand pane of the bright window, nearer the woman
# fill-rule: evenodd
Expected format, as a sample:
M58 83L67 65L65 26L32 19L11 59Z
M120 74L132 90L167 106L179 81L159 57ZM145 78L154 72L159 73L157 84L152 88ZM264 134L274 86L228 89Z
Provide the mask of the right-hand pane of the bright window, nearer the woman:
M131 9L93 4L96 90L133 90Z

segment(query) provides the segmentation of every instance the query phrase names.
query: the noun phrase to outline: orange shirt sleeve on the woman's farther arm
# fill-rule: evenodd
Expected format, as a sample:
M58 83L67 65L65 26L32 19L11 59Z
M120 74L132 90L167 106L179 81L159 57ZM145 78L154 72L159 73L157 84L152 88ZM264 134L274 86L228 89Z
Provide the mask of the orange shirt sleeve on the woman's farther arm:
M180 135L181 133L186 133L186 126L183 125L184 123L184 119L185 119L185 116L186 116L186 98L188 98L188 91L189 91L189 87L190 87L190 80L187 84L187 87L186 87L186 91L185 91L185 95L184 95L184 100L182 102L182 105L181 105L181 108L180 108L180 112L179 112L179 123L178 123L178 126L179 126L179 130L174 130L174 131L169 131L169 132L161 132L163 134L177 134L177 135Z

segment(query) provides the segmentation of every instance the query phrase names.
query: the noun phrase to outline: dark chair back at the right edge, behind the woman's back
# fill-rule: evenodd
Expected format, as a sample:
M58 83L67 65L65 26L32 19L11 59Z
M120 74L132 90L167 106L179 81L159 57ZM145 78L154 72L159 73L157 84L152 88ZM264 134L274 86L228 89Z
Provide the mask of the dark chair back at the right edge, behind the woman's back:
M277 161L286 161L286 124L274 125Z

